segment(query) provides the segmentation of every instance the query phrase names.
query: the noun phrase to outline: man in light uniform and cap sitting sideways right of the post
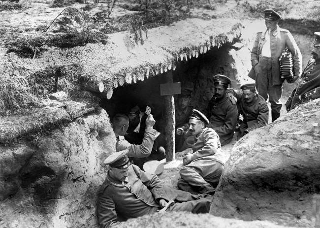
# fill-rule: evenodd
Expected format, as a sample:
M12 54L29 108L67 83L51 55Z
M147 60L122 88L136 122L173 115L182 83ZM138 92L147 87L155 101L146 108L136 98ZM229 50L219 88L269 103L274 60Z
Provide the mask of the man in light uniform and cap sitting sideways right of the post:
M192 145L193 153L183 158L178 188L213 195L226 162L219 135L213 129L206 128L209 120L196 109L192 110L189 124L196 140Z

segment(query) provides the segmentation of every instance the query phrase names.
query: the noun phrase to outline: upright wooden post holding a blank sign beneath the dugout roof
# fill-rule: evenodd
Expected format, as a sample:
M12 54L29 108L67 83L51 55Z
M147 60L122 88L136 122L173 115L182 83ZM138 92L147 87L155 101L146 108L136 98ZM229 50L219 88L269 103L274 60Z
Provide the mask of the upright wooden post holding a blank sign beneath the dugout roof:
M173 82L172 70L164 73L166 83ZM173 95L164 96L164 112L165 112L165 160L171 162L175 160L175 126L176 118L174 111Z

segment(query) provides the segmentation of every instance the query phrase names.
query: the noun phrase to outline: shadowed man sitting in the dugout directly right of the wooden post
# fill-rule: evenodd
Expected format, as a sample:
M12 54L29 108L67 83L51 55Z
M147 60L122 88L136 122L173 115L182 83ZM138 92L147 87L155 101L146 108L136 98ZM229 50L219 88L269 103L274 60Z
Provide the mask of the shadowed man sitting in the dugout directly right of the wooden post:
M189 116L193 109L190 105L191 93L192 88L182 88L175 106L177 152L190 148L194 141L194 136L188 131Z

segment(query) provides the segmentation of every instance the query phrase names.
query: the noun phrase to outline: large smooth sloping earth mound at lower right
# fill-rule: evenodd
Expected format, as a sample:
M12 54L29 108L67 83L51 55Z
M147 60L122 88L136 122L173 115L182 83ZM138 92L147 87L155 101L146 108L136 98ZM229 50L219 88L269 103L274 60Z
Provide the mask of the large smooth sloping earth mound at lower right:
M312 226L320 192L320 99L238 141L211 205L215 216Z

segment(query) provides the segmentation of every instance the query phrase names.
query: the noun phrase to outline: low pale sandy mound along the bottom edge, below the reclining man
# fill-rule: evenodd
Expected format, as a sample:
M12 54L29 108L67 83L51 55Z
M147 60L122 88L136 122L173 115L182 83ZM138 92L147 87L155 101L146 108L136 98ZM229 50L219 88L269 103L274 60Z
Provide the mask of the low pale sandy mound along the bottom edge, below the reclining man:
M129 219L112 228L285 228L268 221L246 222L224 219L210 214L191 214L190 212L164 212ZM288 228L288 227L286 227Z

